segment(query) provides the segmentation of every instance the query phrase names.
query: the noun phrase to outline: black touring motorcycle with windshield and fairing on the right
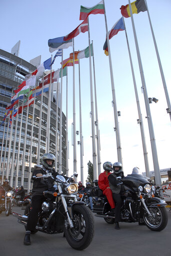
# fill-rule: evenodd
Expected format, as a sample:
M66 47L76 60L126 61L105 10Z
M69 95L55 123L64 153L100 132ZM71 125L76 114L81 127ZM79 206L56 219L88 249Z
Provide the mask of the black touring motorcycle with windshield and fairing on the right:
M164 229L168 220L165 209L167 204L161 198L154 197L155 187L139 174L117 178L120 181L118 184L124 187L121 195L120 221L144 223L153 231ZM95 216L103 217L108 224L114 223L110 205L102 191L93 205L93 212L96 213Z

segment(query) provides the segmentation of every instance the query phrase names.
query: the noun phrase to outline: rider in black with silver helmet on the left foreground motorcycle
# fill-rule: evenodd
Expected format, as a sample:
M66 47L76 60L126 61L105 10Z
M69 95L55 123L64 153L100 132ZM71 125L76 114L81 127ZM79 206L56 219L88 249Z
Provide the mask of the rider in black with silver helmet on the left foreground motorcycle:
M48 178L48 179L36 179L36 177L41 177L43 174L51 173L52 175L56 175L57 172L55 172L54 166L55 162L55 156L50 153L46 153L42 156L41 158L41 163L42 165L35 165L35 168L32 172L32 180L33 180L33 185L32 185L32 192L31 192L31 211L29 212L28 215L28 220L26 224L26 232L24 236L24 241L23 244L29 245L30 242L30 233L34 233L35 231L35 226L37 223L38 219L38 212L41 209L41 204L44 200L43 197L43 191L44 190L50 190L53 187L53 179Z

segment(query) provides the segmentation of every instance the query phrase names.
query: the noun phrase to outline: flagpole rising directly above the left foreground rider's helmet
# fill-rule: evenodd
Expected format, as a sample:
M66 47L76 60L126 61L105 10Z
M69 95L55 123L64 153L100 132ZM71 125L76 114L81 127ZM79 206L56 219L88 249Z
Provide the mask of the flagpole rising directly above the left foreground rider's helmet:
M51 62L52 62L52 55L51 55ZM52 65L51 65L51 66L52 66ZM46 131L46 153L49 153L49 140L50 140L51 66L50 66L50 85L49 85L49 88L48 88L47 131Z

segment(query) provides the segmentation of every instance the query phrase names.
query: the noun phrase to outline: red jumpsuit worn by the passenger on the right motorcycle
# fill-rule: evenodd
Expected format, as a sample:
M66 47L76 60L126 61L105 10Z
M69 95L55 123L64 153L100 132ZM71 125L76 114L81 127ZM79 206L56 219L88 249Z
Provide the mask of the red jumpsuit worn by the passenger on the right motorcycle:
M100 173L100 175L98 176L98 186L102 190L103 194L107 197L107 200L112 209L112 208L115 208L115 204L113 201L111 189L107 188L109 187L108 175L110 174L111 172L107 172L107 171Z

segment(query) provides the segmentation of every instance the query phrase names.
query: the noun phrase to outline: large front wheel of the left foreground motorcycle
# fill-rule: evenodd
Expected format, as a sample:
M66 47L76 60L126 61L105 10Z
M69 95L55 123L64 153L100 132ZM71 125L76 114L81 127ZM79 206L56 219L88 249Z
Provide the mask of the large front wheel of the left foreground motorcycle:
M74 204L72 207L73 228L65 220L64 235L69 245L76 250L85 249L94 235L94 218L90 209L84 204Z

